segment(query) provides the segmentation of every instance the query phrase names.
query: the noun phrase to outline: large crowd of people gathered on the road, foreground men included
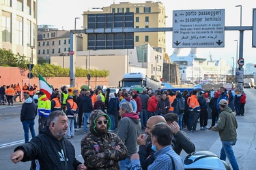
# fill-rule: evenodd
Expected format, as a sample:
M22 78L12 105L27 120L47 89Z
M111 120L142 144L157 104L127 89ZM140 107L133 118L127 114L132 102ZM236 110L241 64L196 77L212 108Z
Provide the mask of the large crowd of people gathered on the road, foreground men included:
M184 169L180 153L195 152L195 145L184 129L190 133L198 131L199 120L200 130L219 131L223 142L221 159L227 156L233 169L238 169L232 149L238 124L229 107L235 105L236 115L244 116L246 95L238 89L235 92L232 95L221 87L214 91L209 102L208 92L197 90L120 89L115 94L107 88L105 94L101 88L83 88L80 93L73 90L68 95L68 89L62 86L54 89L50 99L44 92L38 92L38 106L25 94L20 120L26 143L14 150L11 159L14 163L32 160L31 167L37 167L48 160L46 154L60 156L59 160L45 165L47 169L56 166L59 169ZM208 105L212 109L209 127ZM37 114L39 135L35 136L33 126ZM81 140L84 165L74 158L74 147L68 140L74 137L76 128L83 128L86 134ZM229 131L232 135L227 135ZM46 140L53 150L46 151Z

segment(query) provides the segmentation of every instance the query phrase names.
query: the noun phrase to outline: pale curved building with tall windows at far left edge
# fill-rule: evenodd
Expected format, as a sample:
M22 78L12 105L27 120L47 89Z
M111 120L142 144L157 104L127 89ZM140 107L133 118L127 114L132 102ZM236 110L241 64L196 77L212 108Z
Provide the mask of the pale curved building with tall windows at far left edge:
M37 0L2 0L0 48L37 63ZM32 57L31 57L32 56Z

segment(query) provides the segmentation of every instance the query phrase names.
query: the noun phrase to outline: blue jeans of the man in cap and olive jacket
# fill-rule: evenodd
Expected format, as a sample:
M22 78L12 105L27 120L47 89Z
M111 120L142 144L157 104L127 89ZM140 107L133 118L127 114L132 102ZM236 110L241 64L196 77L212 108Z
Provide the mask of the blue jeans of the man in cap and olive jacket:
M235 154L233 153L233 146L236 145L237 139L234 141L221 141L223 143L223 147L221 148L221 160L226 160L226 156L229 159L229 163L231 164L233 170L238 170L238 162L236 161Z

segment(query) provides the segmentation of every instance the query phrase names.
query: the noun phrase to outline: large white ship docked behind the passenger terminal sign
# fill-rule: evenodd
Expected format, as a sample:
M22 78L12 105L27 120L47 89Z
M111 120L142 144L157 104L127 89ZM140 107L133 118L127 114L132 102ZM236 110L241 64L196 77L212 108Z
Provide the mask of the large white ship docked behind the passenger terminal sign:
M180 50L175 48L169 57L171 63L179 65L182 83L225 83L226 75L232 75L232 68L221 58L214 61L211 54L210 60L197 57L197 48L191 48L188 56L180 56Z

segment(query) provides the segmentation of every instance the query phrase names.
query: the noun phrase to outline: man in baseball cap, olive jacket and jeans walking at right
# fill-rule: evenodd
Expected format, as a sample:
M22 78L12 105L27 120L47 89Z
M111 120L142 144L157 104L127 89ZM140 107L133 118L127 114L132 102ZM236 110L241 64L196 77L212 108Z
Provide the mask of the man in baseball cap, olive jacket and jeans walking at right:
M221 137L221 143L223 147L221 148L221 160L229 159L234 170L239 169L238 163L236 161L236 156L233 153L233 146L236 144L238 128L238 122L236 121L236 116L233 114L232 109L228 107L227 100L221 99L218 103L221 109L221 114L218 116L217 126L212 127L212 131L218 131Z

